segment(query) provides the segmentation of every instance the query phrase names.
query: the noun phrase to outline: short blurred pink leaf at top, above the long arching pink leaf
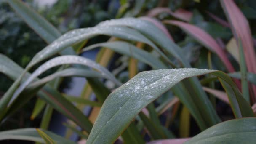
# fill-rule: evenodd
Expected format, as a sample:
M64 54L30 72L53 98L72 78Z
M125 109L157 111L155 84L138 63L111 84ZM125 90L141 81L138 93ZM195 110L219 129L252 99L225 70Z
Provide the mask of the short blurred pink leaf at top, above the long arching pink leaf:
M159 8L154 8L151 11L149 11L148 16L154 17L154 16L159 15L160 13L168 13L171 16L173 16L177 19L181 19L183 21L189 21L193 15L190 11L184 10L182 8L179 8L175 12L172 12L169 8L159 7Z

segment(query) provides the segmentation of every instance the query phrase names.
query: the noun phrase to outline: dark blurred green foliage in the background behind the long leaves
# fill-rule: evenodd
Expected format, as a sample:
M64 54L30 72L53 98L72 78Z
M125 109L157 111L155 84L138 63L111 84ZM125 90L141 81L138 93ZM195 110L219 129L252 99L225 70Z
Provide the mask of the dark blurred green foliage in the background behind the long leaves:
M214 13L216 16L225 19L219 0L58 0L53 5L45 7L36 5L33 0L25 0L25 2L57 27L61 33L71 29L93 27L107 19L124 16L144 16L149 10L155 7L169 7L171 11L179 8L191 11L193 17L189 23L203 28L217 40L221 39L224 43L227 43L232 37L232 32L229 28L221 26L221 24L218 24L206 13ZM253 27L256 24L255 0L235 0L235 2L249 20L253 37L256 37L256 27ZM133 9L136 3L141 3L141 9L139 11ZM122 8L124 8L123 11L131 11L131 13L117 15L117 12L122 11ZM175 19L166 13L160 14L157 18L160 20ZM169 25L166 27L170 30L174 41L186 51L187 59L192 63L193 67L201 69L208 68L208 50L201 49L202 45L195 42L195 40L179 28ZM107 37L96 37L90 40L89 44L106 40ZM0 3L0 53L5 54L21 67L25 67L35 53L46 45L7 4ZM236 65L236 69L239 69L237 62L231 55L229 59L232 59L232 64ZM213 69L225 71L224 66L221 66L219 58L214 54L212 56L212 62ZM140 70L145 69L147 68L142 67ZM44 75L48 75L48 73ZM124 81L128 80L128 71L124 70L120 73L119 77L123 78ZM0 85L0 94L3 94L10 87L12 81L0 74L0 83L3 83ZM159 99L159 103L163 101L165 101L164 97L163 99ZM14 123L15 125L8 125L8 127L1 129L37 127L40 123L40 117L37 117L37 120L34 120L33 123L29 120L35 99L31 103L20 110L22 117L17 116L19 117L18 119L15 117L13 121L10 121L11 124ZM219 103L217 112L219 114L225 114L225 117L222 117L223 119L230 119L230 117L226 117L226 114L232 115L231 109L223 110L227 105L222 102Z

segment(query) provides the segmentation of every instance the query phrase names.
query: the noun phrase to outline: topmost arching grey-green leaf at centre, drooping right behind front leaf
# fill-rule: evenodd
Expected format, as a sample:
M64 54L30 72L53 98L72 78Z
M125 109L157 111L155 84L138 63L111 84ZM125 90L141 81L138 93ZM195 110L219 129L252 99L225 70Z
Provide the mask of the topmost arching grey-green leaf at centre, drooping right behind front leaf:
M163 49L163 51L171 54L174 56L178 61L180 61L182 67L191 67L189 64L189 61L184 58L184 54L182 54L181 48L177 46L174 42L172 42L165 33L158 27L156 27L154 24L150 23L149 21L144 21L143 17L141 19L135 19L135 18L123 18L123 19L115 19L115 20L110 20L110 21L103 21L99 24L100 26L104 27L109 27L109 26L127 26L127 27L132 27L133 29L138 30L141 32L143 35L147 36L149 40L152 40L152 42L156 43L157 45L160 46L160 48ZM152 45L150 45L152 47ZM154 47L152 47L154 48ZM154 48L156 51L157 49ZM158 52L158 51L157 51ZM169 62L169 59L166 58L165 54L162 52L159 52L163 58ZM169 62L170 63L170 62ZM170 63L171 64L171 63ZM178 85L177 85L178 86ZM179 85L179 87L182 87L182 85ZM194 117L197 117L196 119L197 124L201 125L200 128L203 130L205 129L205 126L203 125L214 125L216 123L220 122L220 119L213 109L211 102L209 101L206 93L203 91L202 86L200 85L199 81L197 78L192 77L189 79L189 89L184 90L184 88L180 88L180 90L176 91L176 93L179 93L179 98L185 97L186 99L190 99L189 101L194 101L194 106L193 104L190 104L188 106L186 104L186 107L190 107L193 109L193 111L196 111L197 109L198 112L193 113ZM182 89L182 90L181 90ZM186 92L188 91L188 92ZM187 93L187 94L186 94ZM193 96L189 96L189 93L193 93ZM188 96L182 96L182 95L188 95ZM177 94L176 94L177 95ZM178 96L178 95L177 95ZM190 97L190 98L189 98ZM185 100L183 102L186 102L188 100ZM189 102L188 102L189 103ZM194 108L192 108L194 107ZM195 108L197 107L197 108ZM189 108L189 109L190 109ZM190 112L192 112L190 109ZM197 115L197 116L195 116ZM201 115L201 116L200 116ZM202 119L203 117L203 119ZM204 122L202 122L202 120ZM200 122L199 122L200 121Z

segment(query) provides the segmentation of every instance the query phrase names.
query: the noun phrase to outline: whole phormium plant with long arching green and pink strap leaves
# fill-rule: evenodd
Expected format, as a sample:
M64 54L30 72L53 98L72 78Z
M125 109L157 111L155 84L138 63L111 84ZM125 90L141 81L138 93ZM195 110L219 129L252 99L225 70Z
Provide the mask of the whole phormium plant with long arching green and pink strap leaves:
M47 131L52 110L56 109L65 115L73 124L65 124L67 128L76 132L87 144L111 144L117 139L127 144L141 144L149 137L150 143L253 143L256 141L256 118L251 107L256 99L255 77L256 56L253 47L248 21L241 13L233 0L220 0L221 6L227 16L228 23L224 21L235 37L240 72L235 72L232 62L227 57L227 51L207 32L188 23L193 13L182 9L176 12L168 8L156 8L147 16L137 16L143 3L135 3L134 9L119 11L120 19L102 21L95 27L74 29L61 35L48 21L30 9L20 0L7 0L11 7L26 21L26 23L42 37L48 46L39 51L29 62L25 69L14 61L0 55L0 71L14 80L14 83L0 99L0 120L2 124L20 107L24 106L33 96L38 96L33 117L36 117L47 104L41 128L21 128L10 131L1 131L0 140L17 139L36 141L41 143L74 143ZM125 8L123 5L122 8ZM152 17L160 13L169 13L178 20L167 20L163 23ZM220 19L210 13L220 22ZM185 21L185 22L184 22ZM223 21L222 21L223 22ZM163 24L180 27L190 38L201 43L209 51L216 53L230 74L219 70L192 68L184 51L174 43L173 38ZM222 23L223 24L223 23ZM112 37L105 43L86 45L87 41L98 35ZM85 48L84 45L86 45ZM103 47L96 61L82 56L81 52L93 48ZM124 84L104 66L113 52L131 57L129 61L130 80ZM61 56L56 56L60 54ZM56 56L52 58L53 56ZM50 58L50 59L49 59ZM208 55L211 68L211 55ZM39 62L46 61L37 69L29 73ZM137 62L149 67L150 71L140 72L136 75ZM51 75L38 78L43 72L53 67L58 71ZM210 76L208 75L210 74ZM135 76L134 76L135 75ZM199 81L197 76L207 75ZM85 86L85 93L93 91L97 101L90 101L85 97L75 98L65 95L57 90L61 77L86 77L91 87ZM134 77L133 77L134 76ZM232 78L230 78L231 76ZM111 91L101 79L107 79L115 84ZM213 81L219 80L226 94L213 89ZM250 82L250 83L248 83ZM211 88L203 87L204 83L212 83ZM229 103L235 120L222 122L215 110L215 97L209 96L205 91ZM241 92L242 93L241 93ZM158 106L154 100L167 95L169 99L162 101ZM158 99L159 98L159 99ZM228 100L227 100L228 99ZM175 139L175 135L162 125L159 115L165 111L176 113L181 101L181 136L188 136L187 123L189 114L192 115L201 133L187 139ZM88 118L81 112L81 105L100 107L93 109L96 120ZM173 106L174 105L174 106ZM255 107L255 106L253 106ZM174 116L174 115L171 115ZM166 118L166 121L170 118ZM78 131L79 126L83 132ZM183 128L183 129L182 129ZM147 133L147 134L146 134ZM146 134L146 136L145 136ZM121 137L120 137L121 136ZM157 141L153 141L157 140Z

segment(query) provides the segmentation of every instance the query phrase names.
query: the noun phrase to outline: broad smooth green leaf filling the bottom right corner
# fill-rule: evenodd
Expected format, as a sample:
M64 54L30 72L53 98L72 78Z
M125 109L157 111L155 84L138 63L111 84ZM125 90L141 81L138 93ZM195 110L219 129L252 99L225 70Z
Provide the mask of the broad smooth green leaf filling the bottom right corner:
M256 118L229 120L199 133L185 144L253 144L256 141Z

